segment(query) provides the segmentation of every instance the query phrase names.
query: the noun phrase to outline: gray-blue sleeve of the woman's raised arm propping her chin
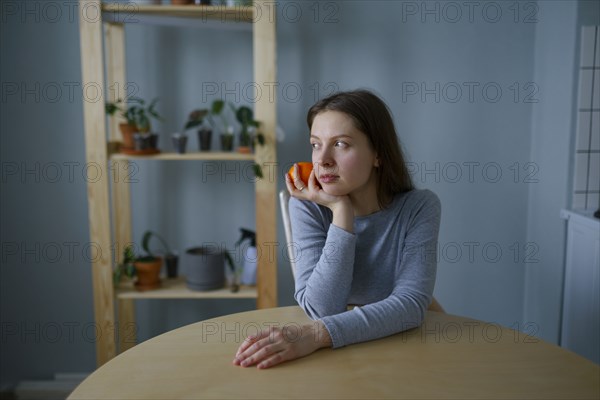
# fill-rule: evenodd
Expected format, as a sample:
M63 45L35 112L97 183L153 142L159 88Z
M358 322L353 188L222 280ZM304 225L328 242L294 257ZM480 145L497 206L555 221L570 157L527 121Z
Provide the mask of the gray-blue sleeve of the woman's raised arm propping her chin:
M313 202L292 197L289 212L296 262L294 298L312 319L346 311L355 234L330 223L331 218Z

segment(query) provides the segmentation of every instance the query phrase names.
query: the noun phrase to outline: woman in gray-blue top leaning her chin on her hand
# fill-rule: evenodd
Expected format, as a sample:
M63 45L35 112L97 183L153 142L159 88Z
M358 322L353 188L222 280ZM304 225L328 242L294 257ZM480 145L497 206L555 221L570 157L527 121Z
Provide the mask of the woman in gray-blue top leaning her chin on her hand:
M307 122L314 169L305 185L296 166L286 186L301 249L295 298L315 323L249 337L235 365L268 368L414 328L432 300L440 202L414 189L385 103L340 92L312 106Z

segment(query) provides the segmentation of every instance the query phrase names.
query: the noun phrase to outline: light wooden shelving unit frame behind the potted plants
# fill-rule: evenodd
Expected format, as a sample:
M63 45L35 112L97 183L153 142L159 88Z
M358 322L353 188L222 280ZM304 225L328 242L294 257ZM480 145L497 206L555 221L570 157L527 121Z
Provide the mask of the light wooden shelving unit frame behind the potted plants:
M132 3L102 4L100 0L79 0L82 85L83 87L95 85L101 88L113 87L113 85L124 87L127 23L167 21L170 24L177 20L185 20L187 25L190 21L199 24L213 22L210 25L211 29L231 29L231 26L234 26L234 29L240 26L242 29L248 29L253 37L254 82L259 85L276 82L275 13L273 4L267 3L269 2L255 0L253 6L228 8L195 5L142 6ZM97 11L94 14L95 18L91 18L90 13L94 10ZM106 76L104 68L106 68ZM123 180L112 180L110 176L111 170L127 170L128 163L134 160L252 161L259 165L274 165L277 161L275 100L264 96L253 104L255 117L262 122L262 132L265 135L265 145L257 146L254 154L192 152L160 153L151 156L111 152L110 149L114 147L109 144L121 140L117 129L121 121L117 117L111 118L109 126L106 126L104 103L115 100L102 97L102 101L84 102L83 107L86 160L102 168L100 178L88 183L90 241L102 249L100 256L92 261L94 315L96 328L100 332L96 341L98 366L109 361L118 351L122 352L132 346L131 330L127 332L125 330L135 322L134 301L137 299L246 298L256 299L258 308L277 306L276 257L261 257L258 261L257 286L242 286L236 293L232 293L228 288L211 292L191 291L182 279L164 280L160 289L148 292L138 292L128 284L123 284L115 290L112 283L112 260L116 257L112 251L114 248L123 248L125 244L132 241L131 200L129 184ZM275 177L258 179L255 183L256 235L259 247L270 248L269 245L276 243L277 240L276 188ZM115 335L110 334L115 331L118 332L116 335L118 340ZM124 340L126 336L127 340Z

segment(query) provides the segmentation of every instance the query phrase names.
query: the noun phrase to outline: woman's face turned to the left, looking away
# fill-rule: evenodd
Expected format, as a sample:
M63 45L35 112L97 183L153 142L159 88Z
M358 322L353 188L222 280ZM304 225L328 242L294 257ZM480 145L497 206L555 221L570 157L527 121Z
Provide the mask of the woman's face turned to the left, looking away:
M376 190L377 155L350 116L339 111L317 114L310 144L315 175L326 193L340 196Z

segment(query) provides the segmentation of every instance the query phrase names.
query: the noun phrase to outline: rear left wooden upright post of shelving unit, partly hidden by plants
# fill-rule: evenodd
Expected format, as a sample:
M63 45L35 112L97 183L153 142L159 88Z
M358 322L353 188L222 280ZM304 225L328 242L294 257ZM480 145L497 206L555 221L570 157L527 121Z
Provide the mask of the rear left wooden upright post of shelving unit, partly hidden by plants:
M122 23L104 24L106 47L107 97L110 101L125 100L129 85L125 79L125 26ZM120 115L110 118L109 142L121 141L119 124L126 122ZM110 148L114 148L110 146ZM129 160L110 160L112 172L112 226L115 238L115 256L120 260L131 241L131 197L129 187ZM117 299L119 353L136 344L135 308L132 299Z

